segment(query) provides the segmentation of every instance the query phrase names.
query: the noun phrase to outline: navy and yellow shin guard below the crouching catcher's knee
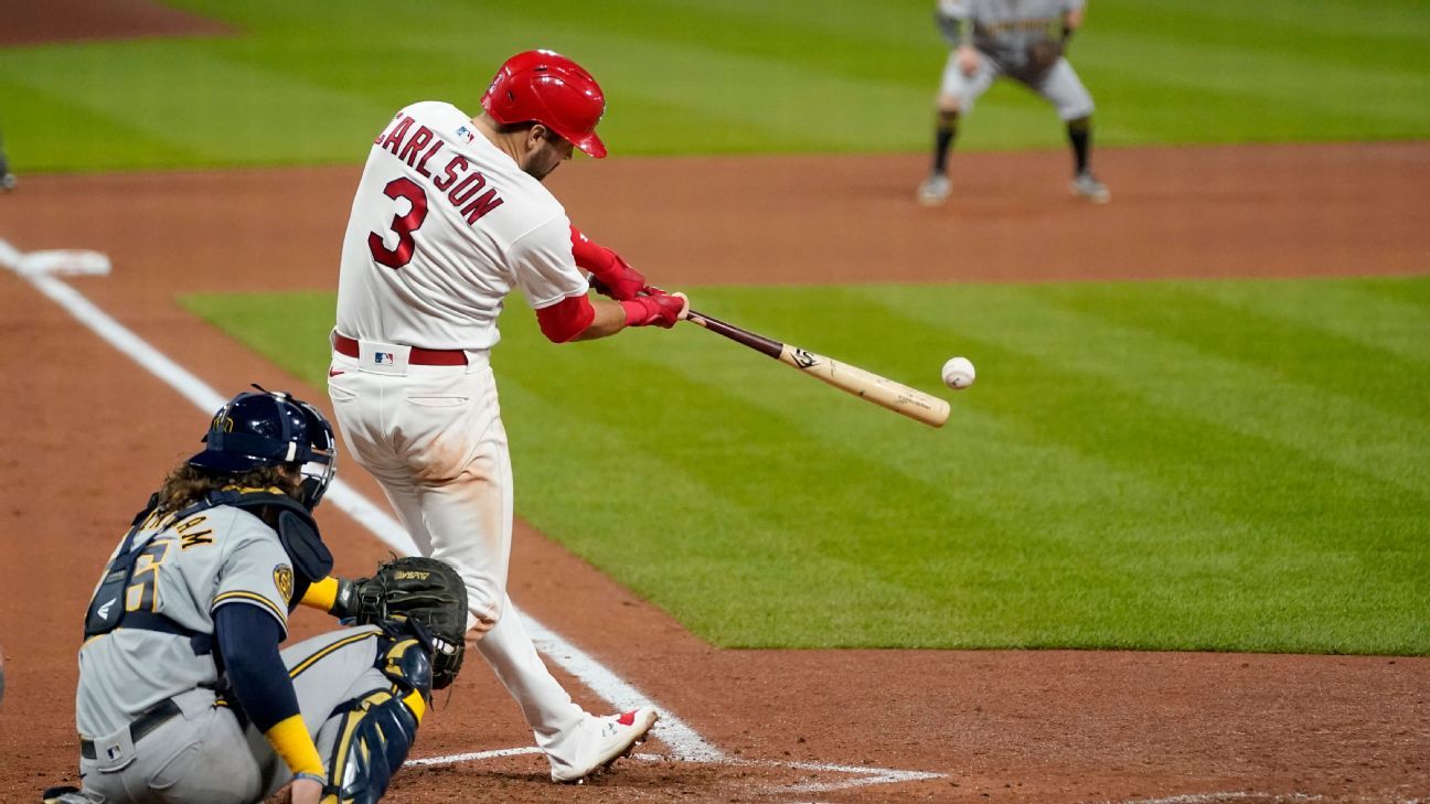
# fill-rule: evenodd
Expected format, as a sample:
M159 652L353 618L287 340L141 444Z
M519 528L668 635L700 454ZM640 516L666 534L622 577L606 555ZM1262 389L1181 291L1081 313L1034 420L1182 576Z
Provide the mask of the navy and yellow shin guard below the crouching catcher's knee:
M347 704L329 763L323 804L378 804L418 737L425 702L379 690Z

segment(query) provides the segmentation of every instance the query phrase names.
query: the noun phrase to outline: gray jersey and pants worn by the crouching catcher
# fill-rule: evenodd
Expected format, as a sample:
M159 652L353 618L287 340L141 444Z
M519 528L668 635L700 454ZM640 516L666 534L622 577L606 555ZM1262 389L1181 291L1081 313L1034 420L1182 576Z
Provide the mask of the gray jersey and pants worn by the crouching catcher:
M226 605L256 607L286 631L293 569L277 534L247 511L220 505L183 518L150 515L112 564L126 545L140 552L123 599L94 601L99 609L124 607L126 618L80 649L84 793L104 803L262 801L290 771L219 692L212 638L214 612ZM102 582L97 594L110 588ZM173 628L144 627L144 614ZM375 627L349 628L282 654L325 758L337 737L335 710L392 687L375 667L379 637Z

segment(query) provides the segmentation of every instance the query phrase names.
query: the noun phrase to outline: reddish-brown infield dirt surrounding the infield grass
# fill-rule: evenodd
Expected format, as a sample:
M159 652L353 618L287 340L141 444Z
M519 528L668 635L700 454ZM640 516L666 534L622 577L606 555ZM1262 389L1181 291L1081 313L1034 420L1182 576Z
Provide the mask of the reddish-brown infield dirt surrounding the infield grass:
M961 155L955 197L912 203L917 157L576 162L553 189L652 279L686 283L1331 276L1430 268L1430 143L1100 155L1107 207L1065 156ZM222 393L307 388L174 302L330 290L356 169L26 176L0 196L17 249L89 247L77 289ZM11 272L0 272L0 800L73 780L74 654L123 522L196 446L203 413ZM349 466L345 479L380 494ZM330 508L340 572L385 548ZM532 754L409 768L392 801L1409 803L1430 798L1430 660L1128 652L712 648L521 525L512 597L715 747L581 788ZM297 635L327 625L295 617ZM565 672L558 672L569 680ZM571 681L578 697L602 708ZM416 757L522 748L480 664ZM862 771L859 771L862 768ZM911 771L899 775L894 771ZM928 774L928 775L919 775ZM937 774L937 775L934 775Z

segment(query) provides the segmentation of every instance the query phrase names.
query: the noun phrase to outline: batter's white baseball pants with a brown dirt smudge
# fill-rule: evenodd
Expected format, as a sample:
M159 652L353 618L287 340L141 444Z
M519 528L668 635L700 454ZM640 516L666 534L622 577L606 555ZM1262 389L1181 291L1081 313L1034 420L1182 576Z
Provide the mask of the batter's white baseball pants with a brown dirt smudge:
M365 352L366 353L366 349ZM506 595L512 466L485 353L466 366L368 366L333 353L327 392L353 461L382 485L423 555L466 581L476 649L553 764L576 763L593 721L551 675Z

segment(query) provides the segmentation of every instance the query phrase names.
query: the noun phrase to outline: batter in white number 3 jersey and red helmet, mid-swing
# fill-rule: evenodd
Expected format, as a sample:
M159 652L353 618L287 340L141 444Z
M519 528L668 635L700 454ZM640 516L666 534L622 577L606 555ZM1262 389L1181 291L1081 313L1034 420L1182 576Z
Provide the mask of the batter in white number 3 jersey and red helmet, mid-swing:
M466 579L470 635L521 704L556 781L615 761L658 715L648 707L585 712L521 619L503 615L512 608L512 466L488 355L512 290L556 343L671 328L686 309L682 295L646 286L573 229L542 186L573 147L605 156L595 132L603 113L591 73L549 50L503 63L475 117L439 102L398 112L373 140L353 197L329 369L355 461L420 551ZM615 300L588 298L585 272Z

